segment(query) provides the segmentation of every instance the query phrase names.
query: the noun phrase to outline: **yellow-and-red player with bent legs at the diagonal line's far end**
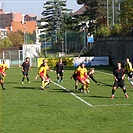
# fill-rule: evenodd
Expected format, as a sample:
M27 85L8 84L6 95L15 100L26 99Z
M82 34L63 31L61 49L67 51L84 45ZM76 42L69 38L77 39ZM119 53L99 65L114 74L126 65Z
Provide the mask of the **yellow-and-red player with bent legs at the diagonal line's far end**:
M49 84L49 81L50 81L50 78L47 77L47 70L48 70L48 67L44 59L43 63L40 66L40 70L38 72L38 75L40 75L40 78L42 80L42 86L41 86L42 90L44 90L44 88ZM37 76L35 79L37 79Z

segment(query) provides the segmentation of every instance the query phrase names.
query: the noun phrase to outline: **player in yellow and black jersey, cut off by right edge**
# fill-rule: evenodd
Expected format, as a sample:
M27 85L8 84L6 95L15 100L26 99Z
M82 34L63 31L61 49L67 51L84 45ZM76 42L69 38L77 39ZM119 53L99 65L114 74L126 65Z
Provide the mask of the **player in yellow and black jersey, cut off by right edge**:
M131 86L133 86L133 68L132 63L129 61L129 58L126 59L126 64L124 66L124 70L128 73L128 81L130 82Z

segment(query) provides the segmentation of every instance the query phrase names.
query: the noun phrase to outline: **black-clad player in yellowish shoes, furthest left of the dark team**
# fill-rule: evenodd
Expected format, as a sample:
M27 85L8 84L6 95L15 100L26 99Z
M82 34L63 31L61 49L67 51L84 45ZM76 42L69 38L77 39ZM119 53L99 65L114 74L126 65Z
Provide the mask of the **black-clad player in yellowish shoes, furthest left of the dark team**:
M32 70L32 69L30 67L29 57L26 57L26 60L22 63L21 66L22 66L22 74L23 74L22 84L24 84L25 78L27 78L27 81L30 84L30 80L29 80L29 77L28 77L28 71L29 71L29 69L30 70Z

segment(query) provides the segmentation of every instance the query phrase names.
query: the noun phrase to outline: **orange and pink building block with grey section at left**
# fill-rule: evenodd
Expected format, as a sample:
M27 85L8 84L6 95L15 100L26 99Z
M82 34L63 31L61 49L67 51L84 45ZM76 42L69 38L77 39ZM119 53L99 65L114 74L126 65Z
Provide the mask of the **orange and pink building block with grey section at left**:
M24 15L18 12L4 12L0 10L0 28L7 29L7 32L21 30L24 33L36 31L36 15Z

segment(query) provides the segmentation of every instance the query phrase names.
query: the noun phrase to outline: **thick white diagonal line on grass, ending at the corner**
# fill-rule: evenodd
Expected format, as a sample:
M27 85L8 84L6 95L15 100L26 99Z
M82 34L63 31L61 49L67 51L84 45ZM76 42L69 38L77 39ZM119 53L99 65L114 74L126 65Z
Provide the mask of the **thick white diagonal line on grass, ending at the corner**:
M73 92L71 92L70 90L66 89L65 87L63 87L63 86L61 86L61 85L59 85L59 84L57 84L57 83L55 83L55 82L53 82L53 81L51 81L51 82L52 82L53 84L59 86L59 87L62 88L63 90L69 92L71 95L73 95L74 97L76 97L77 99L79 99L80 101L82 101L83 103L85 103L86 105L91 106L91 107L93 106L92 104L86 102L85 100L83 100L82 98L80 98L79 96L77 96L76 94L74 94Z

